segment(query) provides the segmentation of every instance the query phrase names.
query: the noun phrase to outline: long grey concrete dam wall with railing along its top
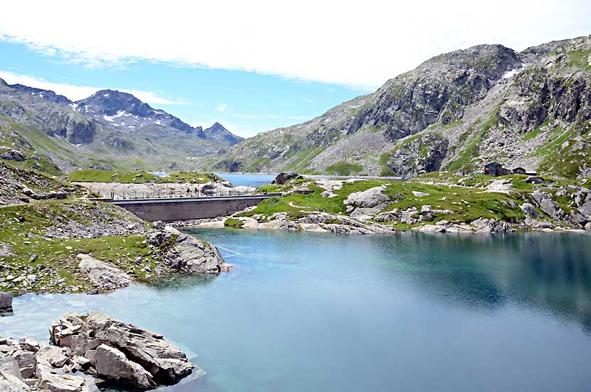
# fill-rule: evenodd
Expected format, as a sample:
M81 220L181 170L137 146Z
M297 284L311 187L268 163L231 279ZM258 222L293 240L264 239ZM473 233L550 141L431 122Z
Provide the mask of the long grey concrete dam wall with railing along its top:
M234 212L254 207L270 197L281 193L239 196L171 197L162 199L96 199L125 208L143 220L191 220L224 217Z

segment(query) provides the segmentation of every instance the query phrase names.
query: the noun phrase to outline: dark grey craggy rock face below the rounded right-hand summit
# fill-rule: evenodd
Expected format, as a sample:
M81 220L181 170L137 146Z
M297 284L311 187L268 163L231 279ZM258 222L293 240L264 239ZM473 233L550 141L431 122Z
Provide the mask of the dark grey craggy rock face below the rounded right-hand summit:
M441 119L461 118L464 105L480 100L503 73L521 66L518 54L501 45L481 45L436 56L388 81L360 111L350 129L383 127L389 138L417 133Z

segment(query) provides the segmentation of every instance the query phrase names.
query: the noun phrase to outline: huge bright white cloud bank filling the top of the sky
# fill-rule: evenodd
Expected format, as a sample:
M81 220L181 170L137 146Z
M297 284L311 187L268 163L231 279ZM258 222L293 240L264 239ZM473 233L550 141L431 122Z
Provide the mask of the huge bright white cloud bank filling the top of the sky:
M6 1L2 12L4 39L87 66L165 61L360 88L478 43L523 49L587 35L591 20L589 0L105 0L92 19L108 29L89 29L88 7L73 0Z

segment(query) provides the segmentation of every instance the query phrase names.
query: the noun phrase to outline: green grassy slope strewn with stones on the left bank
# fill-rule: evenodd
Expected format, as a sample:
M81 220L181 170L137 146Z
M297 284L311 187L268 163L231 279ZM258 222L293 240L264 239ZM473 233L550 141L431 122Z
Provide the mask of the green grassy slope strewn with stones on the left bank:
M75 212L75 209L69 208L74 204L83 205L84 212ZM47 229L56 225L67 225L71 221L90 225L88 215L98 209L107 212L111 218L120 218L120 213L125 213L112 205L75 201L37 202L0 208L0 244L11 247L11 252L16 254L0 261L0 280L6 282L6 277L19 277L21 274L36 274L38 277L28 287L23 287L19 282L12 287L0 286L0 290L11 290L18 295L24 292L63 292L71 286L78 286L80 291L92 289L93 285L88 277L78 270L78 253L90 254L104 262L110 262L140 281L145 279L147 272L142 269L145 266L155 269L155 259L152 256L159 249L151 249L145 238L140 235L100 238L45 237ZM38 255L36 262L29 262L31 254ZM135 264L136 257L142 259L141 266ZM41 264L47 268L40 270ZM50 272L51 276L43 277L45 272ZM56 283L58 279L64 279L63 287ZM54 282L51 282L52 280Z

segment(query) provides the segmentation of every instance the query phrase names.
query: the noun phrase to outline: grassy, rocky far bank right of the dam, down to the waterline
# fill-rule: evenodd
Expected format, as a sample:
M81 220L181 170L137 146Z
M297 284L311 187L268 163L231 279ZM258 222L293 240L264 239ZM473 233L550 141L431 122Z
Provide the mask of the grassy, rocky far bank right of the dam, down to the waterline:
M533 188L531 192L513 189L513 182L521 187L528 185L522 181L521 177L500 180L491 177L482 187L444 182L394 185L363 179L313 181L297 173L283 172L273 181L273 186L280 187L283 192L283 197L277 200L267 200L258 207L228 217L173 222L172 225L183 229L229 226L338 234L393 234L403 230L439 233L591 231L591 192L587 188L548 186L546 184L553 185L556 181L540 178L540 187L529 184ZM430 193L432 190L441 196L435 197ZM464 197L459 196L459 192L463 192ZM480 212L471 211L473 204L478 205ZM342 212L318 208L324 205Z

